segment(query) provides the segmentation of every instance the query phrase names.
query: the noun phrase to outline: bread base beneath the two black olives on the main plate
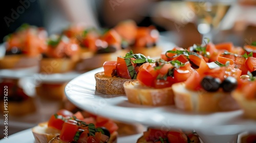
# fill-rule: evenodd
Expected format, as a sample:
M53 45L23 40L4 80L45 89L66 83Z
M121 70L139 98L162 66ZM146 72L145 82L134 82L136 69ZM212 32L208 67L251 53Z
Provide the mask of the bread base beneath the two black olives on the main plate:
M217 112L237 110L239 106L230 93L191 91L185 88L185 83L172 85L175 106L185 111Z

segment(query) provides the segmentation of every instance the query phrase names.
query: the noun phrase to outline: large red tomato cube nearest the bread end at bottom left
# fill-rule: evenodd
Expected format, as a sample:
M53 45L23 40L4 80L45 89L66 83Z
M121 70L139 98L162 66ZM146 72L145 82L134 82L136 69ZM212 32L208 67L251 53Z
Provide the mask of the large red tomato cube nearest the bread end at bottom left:
M77 122L74 120L68 120L63 124L63 128L61 129L59 138L62 141L71 142L73 141L76 132L78 131Z

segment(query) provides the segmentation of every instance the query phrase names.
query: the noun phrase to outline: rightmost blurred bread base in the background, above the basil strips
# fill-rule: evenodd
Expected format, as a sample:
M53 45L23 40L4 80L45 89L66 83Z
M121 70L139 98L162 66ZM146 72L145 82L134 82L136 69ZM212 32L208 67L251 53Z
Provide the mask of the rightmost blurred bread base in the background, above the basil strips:
M163 52L162 48L155 46L155 47L133 47L133 53L141 53L145 56L150 56L152 58L159 57L160 54Z

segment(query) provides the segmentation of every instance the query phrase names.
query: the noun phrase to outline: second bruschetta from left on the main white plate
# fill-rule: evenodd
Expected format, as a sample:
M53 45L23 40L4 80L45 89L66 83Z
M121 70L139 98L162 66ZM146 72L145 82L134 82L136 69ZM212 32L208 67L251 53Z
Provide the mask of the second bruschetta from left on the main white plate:
M135 104L161 106L174 104L172 85L185 81L194 70L187 62L145 63L139 68L137 81L123 84L128 101Z

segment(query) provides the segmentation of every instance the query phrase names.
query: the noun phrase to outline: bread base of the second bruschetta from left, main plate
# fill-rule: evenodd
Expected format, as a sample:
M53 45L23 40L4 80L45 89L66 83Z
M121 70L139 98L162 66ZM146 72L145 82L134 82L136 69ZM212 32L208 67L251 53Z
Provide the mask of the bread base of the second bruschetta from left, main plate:
M123 84L129 102L141 105L162 106L174 104L172 87L153 89L141 85L138 81L126 81Z

